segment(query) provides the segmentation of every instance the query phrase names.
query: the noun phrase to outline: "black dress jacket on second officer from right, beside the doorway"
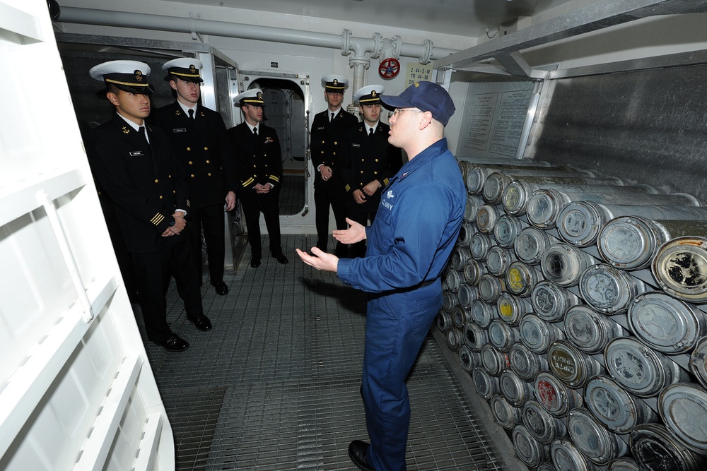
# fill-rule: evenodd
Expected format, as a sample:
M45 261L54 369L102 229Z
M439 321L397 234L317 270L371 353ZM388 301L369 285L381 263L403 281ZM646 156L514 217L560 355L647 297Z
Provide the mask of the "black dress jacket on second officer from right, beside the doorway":
M331 114L329 109L317 113L312 121L310 152L312 153L312 164L315 169L314 186L315 188L339 189L339 187L343 186L340 173L340 151L344 131L356 126L358 119L345 109L339 110L337 116L334 117L334 121L329 121L329 114ZM331 179L325 181L322 179L322 174L316 171L317 167L322 164L332 167Z

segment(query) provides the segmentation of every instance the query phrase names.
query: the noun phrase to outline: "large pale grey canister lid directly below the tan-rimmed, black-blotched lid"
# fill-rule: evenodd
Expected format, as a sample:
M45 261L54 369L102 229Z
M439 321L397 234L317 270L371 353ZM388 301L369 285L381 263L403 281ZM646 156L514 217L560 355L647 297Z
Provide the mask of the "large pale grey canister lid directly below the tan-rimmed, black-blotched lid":
M645 345L667 354L689 352L707 334L702 311L662 292L648 292L633 299L628 320Z

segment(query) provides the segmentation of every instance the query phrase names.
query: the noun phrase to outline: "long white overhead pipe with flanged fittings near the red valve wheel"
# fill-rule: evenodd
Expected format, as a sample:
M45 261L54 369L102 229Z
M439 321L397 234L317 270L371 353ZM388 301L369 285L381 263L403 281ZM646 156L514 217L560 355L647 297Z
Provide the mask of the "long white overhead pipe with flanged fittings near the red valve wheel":
M370 38L353 37L351 31L346 29L341 32L341 35L334 35L289 28L204 20L194 18L193 15L190 15L189 18L179 18L176 16L64 7L59 21L140 28L144 30L188 32L195 39L199 34L206 34L341 49L341 55L343 56L349 56L351 52L354 53L349 58L349 66L354 68L354 82L352 84L354 90L358 90L358 88L363 86L363 76L366 69L370 67L370 57L377 59L381 54L384 54L382 59L391 57L399 59L400 56L417 57L421 64L426 65L434 59L441 59L457 52L455 49L434 47L431 40L424 40L422 44L409 44L402 42L402 38L399 36L394 36L392 39L383 39L378 32ZM370 56L366 56L367 53Z

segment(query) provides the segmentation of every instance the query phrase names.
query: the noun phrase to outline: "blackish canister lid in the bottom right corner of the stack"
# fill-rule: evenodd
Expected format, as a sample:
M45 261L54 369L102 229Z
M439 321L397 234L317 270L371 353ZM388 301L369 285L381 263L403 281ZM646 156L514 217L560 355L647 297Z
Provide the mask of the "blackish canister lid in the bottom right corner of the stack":
M629 435L631 454L641 471L701 471L706 460L691 453L660 424L641 424Z

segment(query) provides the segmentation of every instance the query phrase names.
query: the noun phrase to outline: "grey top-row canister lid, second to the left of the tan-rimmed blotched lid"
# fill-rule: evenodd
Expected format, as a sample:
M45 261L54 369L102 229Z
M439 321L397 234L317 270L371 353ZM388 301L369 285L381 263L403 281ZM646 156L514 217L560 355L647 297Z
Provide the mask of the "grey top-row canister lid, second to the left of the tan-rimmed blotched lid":
M557 215L557 232L568 244L590 246L596 242L609 217L611 213L599 203L572 201Z

